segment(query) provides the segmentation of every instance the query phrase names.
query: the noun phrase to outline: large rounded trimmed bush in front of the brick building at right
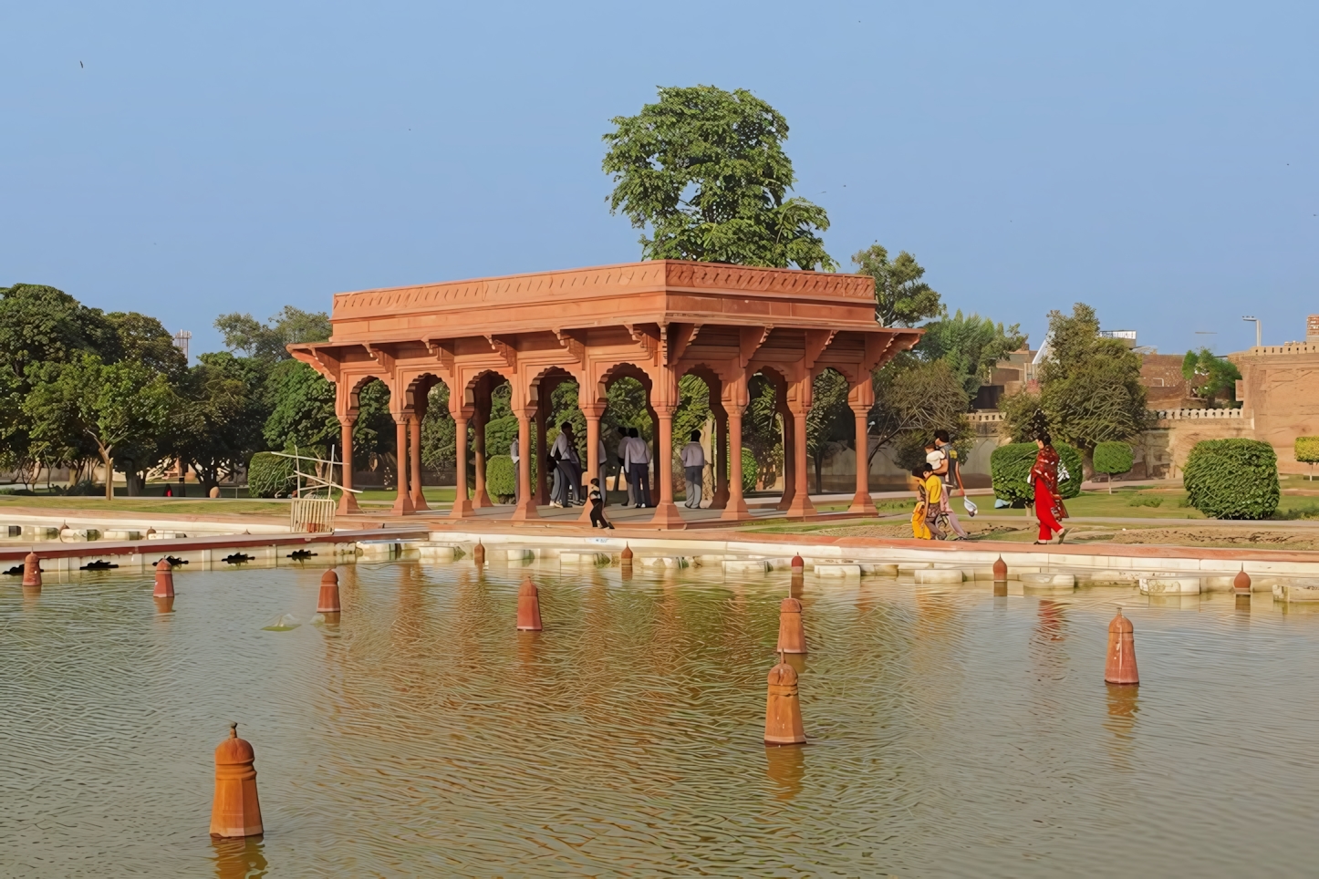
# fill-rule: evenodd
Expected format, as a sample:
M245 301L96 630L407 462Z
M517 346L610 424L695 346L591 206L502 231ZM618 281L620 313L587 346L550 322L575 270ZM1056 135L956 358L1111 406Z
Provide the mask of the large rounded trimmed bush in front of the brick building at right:
M1186 459L1182 485L1211 519L1265 519L1278 509L1278 456L1260 440L1202 440Z

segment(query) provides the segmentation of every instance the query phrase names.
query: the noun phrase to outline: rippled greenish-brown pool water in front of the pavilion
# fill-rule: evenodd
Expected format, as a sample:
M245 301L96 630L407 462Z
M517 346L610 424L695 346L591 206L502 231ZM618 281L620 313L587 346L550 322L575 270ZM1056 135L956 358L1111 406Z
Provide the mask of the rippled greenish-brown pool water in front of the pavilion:
M807 576L810 745L766 749L786 573L532 571L539 634L463 563L340 568L338 627L313 568L179 575L169 614L149 575L0 586L0 874L1315 870L1319 615ZM268 833L216 843L231 720Z

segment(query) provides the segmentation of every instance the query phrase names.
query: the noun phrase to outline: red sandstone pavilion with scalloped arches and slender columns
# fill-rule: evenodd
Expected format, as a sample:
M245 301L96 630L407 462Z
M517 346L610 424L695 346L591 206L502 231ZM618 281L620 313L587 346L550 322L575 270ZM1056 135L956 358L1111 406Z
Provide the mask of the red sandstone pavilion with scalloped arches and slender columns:
M546 468L539 468L539 485L532 490L532 431L536 448L545 449L550 393L559 382L578 383L587 424L583 478L590 480L599 465L600 416L609 385L629 376L645 387L656 427L654 459L667 463L673 460L678 380L689 373L710 387L718 430L714 447L718 457L728 457L714 461L718 480L711 506L723 510L723 519L748 517L741 419L747 382L760 373L778 389L785 460L791 463L780 506L790 517L811 515L806 415L814 378L835 369L848 380L857 436L865 436L873 403L871 372L921 335L876 322L874 281L868 275L675 260L342 293L334 298L331 324L328 341L289 345L289 351L335 383L347 461L352 460L359 390L372 378L389 387L398 441L396 514L427 509L421 490L421 419L437 382L450 389L458 428L458 499L450 517L462 519L491 506L483 427L491 391L509 382L521 489L513 521L539 518L537 505L547 499ZM471 499L464 467L468 424L476 428ZM857 457L864 461L864 452ZM656 469L658 502L652 522L681 528L671 468ZM350 470L344 468L343 484L351 488ZM356 499L346 492L340 511L356 509ZM873 510L868 473L859 467L851 511ZM582 518L587 518L584 510Z

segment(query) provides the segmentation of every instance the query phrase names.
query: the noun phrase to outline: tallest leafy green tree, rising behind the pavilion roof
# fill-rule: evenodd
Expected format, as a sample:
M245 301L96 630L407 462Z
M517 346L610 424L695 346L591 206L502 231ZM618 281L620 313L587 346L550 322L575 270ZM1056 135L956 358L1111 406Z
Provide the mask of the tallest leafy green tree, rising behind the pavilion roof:
M642 229L644 258L836 269L816 235L824 210L787 198L787 121L765 101L741 88L661 88L658 103L611 121L609 211Z

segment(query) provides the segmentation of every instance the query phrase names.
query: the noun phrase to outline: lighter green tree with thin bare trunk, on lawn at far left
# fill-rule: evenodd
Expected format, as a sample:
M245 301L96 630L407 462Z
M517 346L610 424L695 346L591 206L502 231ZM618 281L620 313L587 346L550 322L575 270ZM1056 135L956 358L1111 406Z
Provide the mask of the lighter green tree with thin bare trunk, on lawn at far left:
M169 382L137 361L107 364L90 352L65 364L46 364L40 373L22 402L33 439L62 441L80 435L90 440L106 467L106 499L113 498L119 448L168 427L174 398Z

